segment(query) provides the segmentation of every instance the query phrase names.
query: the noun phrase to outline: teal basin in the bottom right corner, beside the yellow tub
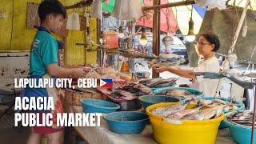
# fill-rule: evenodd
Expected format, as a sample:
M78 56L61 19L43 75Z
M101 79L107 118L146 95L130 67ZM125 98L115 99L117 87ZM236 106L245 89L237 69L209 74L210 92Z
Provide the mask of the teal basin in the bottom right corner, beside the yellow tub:
M250 144L250 134L251 128L234 124L233 122L229 122L226 119L223 121L226 126L230 129L230 134L235 142L239 144ZM254 134L254 143L256 142L256 137Z

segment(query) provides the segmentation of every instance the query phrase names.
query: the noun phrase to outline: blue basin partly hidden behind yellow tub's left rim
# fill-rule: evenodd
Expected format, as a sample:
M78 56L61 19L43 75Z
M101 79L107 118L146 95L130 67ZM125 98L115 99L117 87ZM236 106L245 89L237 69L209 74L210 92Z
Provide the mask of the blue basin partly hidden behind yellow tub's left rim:
M144 95L138 98L142 103L142 106L146 110L147 106L154 105L160 102L180 102L181 100L178 98L174 98L166 95Z

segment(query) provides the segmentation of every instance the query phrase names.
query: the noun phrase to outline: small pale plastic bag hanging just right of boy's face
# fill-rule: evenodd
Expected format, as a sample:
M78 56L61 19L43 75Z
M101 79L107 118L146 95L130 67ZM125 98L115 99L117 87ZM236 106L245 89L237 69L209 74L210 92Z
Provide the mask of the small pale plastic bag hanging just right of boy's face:
M80 30L80 19L78 14L72 13L67 17L66 29Z

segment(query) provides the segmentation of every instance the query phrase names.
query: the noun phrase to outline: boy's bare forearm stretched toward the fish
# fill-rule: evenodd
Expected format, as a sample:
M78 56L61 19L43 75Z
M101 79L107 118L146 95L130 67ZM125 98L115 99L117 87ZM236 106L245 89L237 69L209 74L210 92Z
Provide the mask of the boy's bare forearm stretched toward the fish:
M82 68L63 68L57 63L52 63L47 67L47 71L51 76L59 78L82 78L86 76L86 71Z

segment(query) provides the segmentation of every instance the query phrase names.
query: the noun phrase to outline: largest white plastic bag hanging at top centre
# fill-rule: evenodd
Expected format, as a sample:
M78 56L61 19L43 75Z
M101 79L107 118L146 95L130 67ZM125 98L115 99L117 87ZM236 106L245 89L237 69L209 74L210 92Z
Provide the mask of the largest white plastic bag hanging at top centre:
M114 4L114 11L112 16L126 20L126 19L138 19L142 14L142 8L138 0L118 0Z

